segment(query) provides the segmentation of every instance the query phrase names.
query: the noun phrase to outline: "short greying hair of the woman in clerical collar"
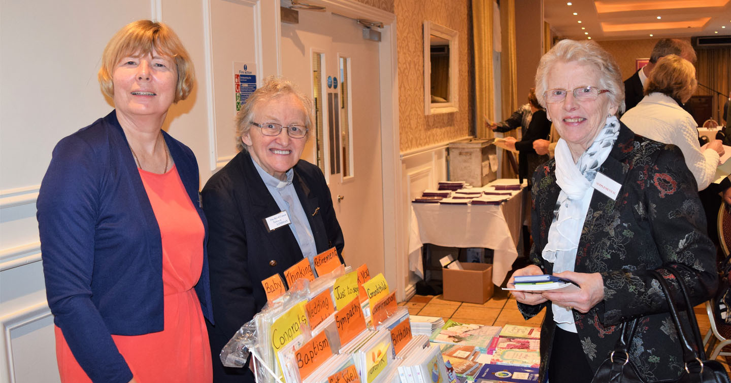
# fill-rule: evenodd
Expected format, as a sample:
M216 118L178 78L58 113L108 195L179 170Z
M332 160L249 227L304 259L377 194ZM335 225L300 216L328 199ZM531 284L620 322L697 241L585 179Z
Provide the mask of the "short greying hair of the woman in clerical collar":
M257 109L265 102L271 101L274 98L292 94L297 97L305 112L305 128L311 130L312 120L314 115L314 103L312 99L305 95L305 93L298 90L297 85L293 82L284 79L283 77L269 76L264 79L264 83L260 88L254 90L251 93L249 99L246 100L246 104L243 104L241 109L236 114L236 149L239 152L244 150L248 151L249 148L241 141L241 137L249 134L251 129L251 123L269 123L270 121L254 121L257 118ZM311 136L308 131L305 139L309 139Z

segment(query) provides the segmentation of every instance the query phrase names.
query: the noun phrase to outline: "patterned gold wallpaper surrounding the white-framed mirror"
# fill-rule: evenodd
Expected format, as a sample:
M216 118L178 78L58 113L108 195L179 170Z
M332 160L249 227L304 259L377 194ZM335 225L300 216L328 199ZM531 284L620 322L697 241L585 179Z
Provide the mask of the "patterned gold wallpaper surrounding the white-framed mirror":
M365 0L359 0L366 2ZM371 0L377 1L377 0ZM469 0L396 0L398 121L403 152L467 136L472 125L474 78ZM459 111L424 115L424 20L458 31Z

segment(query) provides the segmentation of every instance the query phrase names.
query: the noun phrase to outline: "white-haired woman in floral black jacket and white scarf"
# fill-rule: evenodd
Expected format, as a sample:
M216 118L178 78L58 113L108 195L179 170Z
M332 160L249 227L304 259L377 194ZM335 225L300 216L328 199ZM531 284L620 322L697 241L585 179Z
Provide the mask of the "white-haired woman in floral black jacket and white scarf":
M681 347L648 270L678 269L694 305L716 290L715 251L693 174L677 147L619 122L620 72L595 42L563 40L543 55L536 94L561 139L556 157L533 175L533 264L514 276L553 274L580 287L513 292L524 317L546 309L539 381L590 382L622 322L640 316L630 349L640 375L676 379Z

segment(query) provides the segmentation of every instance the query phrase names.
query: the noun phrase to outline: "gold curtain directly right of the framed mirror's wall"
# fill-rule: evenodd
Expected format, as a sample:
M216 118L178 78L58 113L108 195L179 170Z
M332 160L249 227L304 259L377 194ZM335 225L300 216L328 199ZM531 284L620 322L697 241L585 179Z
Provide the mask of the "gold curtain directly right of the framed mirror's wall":
M493 82L493 1L472 0L472 34L474 35L474 94L477 136L492 136L485 126L485 116L495 120Z

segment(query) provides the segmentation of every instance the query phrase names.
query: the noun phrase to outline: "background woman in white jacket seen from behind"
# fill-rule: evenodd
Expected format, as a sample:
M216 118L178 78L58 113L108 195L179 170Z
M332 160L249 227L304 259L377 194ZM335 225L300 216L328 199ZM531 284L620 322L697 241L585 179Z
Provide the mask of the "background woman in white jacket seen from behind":
M718 139L701 148L697 124L681 107L693 95L697 84L690 61L678 55L664 56L648 78L645 98L621 120L635 134L679 147L698 190L703 190L713 182L724 148Z

